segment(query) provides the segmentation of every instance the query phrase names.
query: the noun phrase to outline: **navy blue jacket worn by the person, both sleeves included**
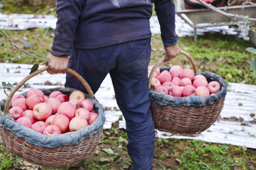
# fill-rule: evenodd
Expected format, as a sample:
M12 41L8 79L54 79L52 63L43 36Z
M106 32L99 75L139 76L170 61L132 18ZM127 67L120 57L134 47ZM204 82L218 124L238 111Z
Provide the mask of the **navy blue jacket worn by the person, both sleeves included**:
M153 2L164 44L177 43L173 0L56 0L51 52L69 56L72 46L92 49L150 38Z

